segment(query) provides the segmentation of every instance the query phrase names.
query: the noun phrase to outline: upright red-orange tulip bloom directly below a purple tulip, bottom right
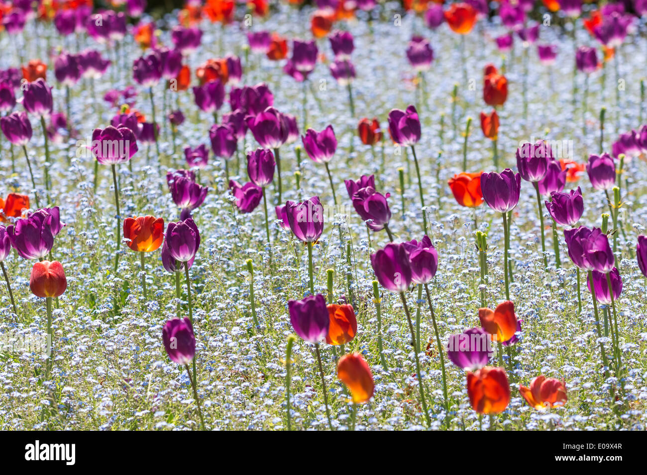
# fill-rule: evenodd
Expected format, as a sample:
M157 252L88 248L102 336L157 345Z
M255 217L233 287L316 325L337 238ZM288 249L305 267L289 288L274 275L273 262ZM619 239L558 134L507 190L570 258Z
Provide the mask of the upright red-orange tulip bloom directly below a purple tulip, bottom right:
M467 372L467 395L476 412L503 412L510 403L510 385L505 370L485 366L474 373Z

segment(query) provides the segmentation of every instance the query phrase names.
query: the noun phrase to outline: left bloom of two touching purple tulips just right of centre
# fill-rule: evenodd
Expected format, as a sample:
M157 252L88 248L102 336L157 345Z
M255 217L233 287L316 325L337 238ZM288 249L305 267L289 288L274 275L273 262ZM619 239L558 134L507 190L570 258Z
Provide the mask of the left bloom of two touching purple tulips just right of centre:
M371 254L371 266L380 285L391 292L404 292L411 285L411 264L404 244L389 242Z

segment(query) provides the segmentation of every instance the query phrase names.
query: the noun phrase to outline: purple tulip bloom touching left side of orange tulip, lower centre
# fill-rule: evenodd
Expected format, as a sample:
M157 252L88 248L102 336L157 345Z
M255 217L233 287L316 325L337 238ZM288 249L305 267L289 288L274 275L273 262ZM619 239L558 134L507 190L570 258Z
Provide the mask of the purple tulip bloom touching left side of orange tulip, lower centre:
M319 343L328 334L330 317L323 295L308 295L305 299L287 303L294 333L303 341Z

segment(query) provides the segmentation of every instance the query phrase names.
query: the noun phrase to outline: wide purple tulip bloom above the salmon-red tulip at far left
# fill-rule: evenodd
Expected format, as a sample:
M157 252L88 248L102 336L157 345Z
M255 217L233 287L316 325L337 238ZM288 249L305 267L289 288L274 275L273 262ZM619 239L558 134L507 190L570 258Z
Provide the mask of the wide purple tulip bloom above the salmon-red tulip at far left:
M54 216L39 210L6 227L11 245L23 259L42 259L54 246ZM54 226L57 225L54 222ZM60 229L60 228L59 228Z

